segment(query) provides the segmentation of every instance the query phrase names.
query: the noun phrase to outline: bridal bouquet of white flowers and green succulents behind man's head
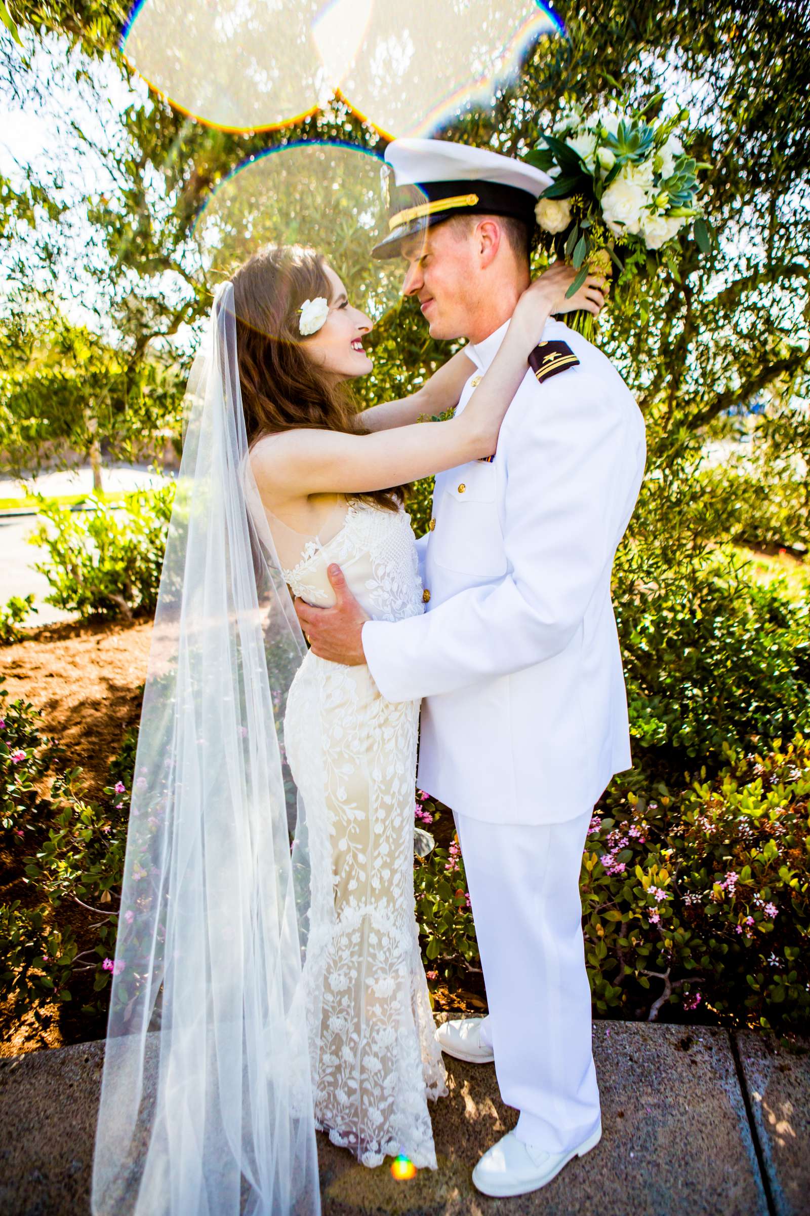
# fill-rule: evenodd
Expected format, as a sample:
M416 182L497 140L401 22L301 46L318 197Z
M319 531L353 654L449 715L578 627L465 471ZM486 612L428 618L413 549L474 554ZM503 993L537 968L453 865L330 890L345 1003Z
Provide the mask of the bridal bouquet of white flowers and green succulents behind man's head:
M542 244L579 271L568 288L573 295L588 274L610 276L618 269L619 289L655 276L659 265L675 268L682 230L702 253L709 232L697 202L697 170L709 168L689 154L679 130L687 117L651 120L639 112L601 111L585 116L570 105L553 134L525 157L554 181L540 195L536 218ZM590 313L567 317L585 337L593 333Z

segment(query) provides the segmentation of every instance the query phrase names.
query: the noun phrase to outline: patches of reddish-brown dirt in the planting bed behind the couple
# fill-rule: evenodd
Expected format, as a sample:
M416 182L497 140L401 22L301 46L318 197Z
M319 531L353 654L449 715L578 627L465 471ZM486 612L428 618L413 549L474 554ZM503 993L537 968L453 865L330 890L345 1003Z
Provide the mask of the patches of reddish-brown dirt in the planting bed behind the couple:
M23 641L0 649L0 674L10 699L22 697L43 710L43 733L62 744L70 767L81 767L89 799L101 796L124 732L138 722L151 634L151 621L67 623L28 629ZM436 835L446 845L453 824L449 812L442 821ZM21 861L22 854L12 856L0 848L0 903L38 902L35 890L24 882ZM55 921L70 925L80 950L92 946L96 914L66 901ZM486 1003L478 975L470 978L470 989L438 986L435 1008L481 1014ZM70 1002L40 1006L41 1029L30 1015L15 1020L0 1003L0 1057L102 1037L106 1019L89 1019L80 1012L91 986L85 992L81 983L72 981L70 991Z

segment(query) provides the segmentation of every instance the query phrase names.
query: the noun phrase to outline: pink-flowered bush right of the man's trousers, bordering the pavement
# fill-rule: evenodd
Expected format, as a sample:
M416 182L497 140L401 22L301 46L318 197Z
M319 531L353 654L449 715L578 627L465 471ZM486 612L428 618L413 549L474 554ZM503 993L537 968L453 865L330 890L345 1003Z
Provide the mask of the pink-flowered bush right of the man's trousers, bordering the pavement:
M810 739L725 759L678 794L617 778L591 821L583 928L600 1013L699 1007L721 1023L806 1029Z

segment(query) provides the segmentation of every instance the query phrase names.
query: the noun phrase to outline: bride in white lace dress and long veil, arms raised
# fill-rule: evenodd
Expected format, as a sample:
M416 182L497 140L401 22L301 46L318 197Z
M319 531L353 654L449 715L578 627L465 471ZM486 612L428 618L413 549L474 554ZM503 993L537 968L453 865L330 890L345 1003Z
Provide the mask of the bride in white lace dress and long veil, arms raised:
M436 1167L419 702L308 652L293 596L334 602L334 561L370 617L424 610L406 486L495 450L548 316L595 308L590 280L563 300L572 278L534 280L466 407L419 424L474 365L358 415L372 323L323 255L268 246L217 288L145 687L95 1216L318 1212L315 1127L368 1166Z

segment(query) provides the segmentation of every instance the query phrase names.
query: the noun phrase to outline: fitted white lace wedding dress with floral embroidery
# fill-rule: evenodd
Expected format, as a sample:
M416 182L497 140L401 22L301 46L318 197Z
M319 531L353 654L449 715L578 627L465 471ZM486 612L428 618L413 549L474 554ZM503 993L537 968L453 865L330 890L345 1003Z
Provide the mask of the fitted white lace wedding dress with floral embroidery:
M268 514L285 581L335 602L336 562L369 617L424 612L409 514L352 501L329 540ZM344 513L345 511L345 513ZM321 534L327 529L322 529ZM316 1126L363 1165L404 1153L436 1169L427 1098L447 1093L413 890L419 702L385 700L368 666L305 655L284 748L308 821L312 902L304 967Z

